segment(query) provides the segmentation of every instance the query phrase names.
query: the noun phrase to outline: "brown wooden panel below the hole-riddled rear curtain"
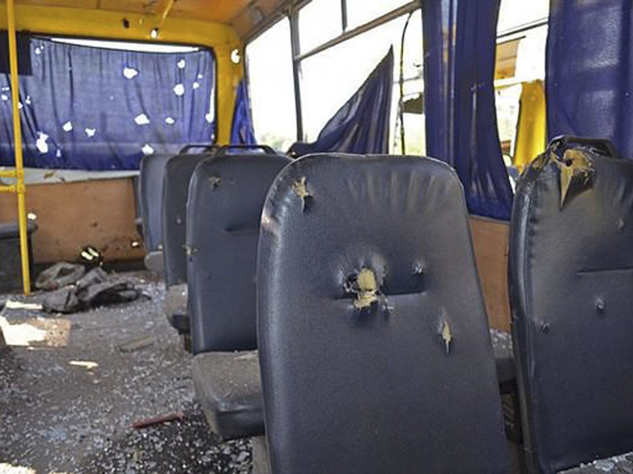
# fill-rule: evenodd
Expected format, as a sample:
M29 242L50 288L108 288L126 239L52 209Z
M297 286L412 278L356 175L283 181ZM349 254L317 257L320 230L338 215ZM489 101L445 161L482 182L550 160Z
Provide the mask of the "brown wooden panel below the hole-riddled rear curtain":
M0 195L0 222L17 219L14 195ZM134 225L132 178L27 186L27 210L37 216L35 263L76 260L92 245L105 260L142 258Z

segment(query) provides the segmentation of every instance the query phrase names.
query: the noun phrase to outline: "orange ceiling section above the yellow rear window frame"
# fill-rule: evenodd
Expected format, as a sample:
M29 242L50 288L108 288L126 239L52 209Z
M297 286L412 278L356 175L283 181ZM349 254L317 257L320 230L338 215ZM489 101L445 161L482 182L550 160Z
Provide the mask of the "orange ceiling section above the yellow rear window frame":
M16 4L163 15L217 21L246 38L279 15L291 0L16 0Z

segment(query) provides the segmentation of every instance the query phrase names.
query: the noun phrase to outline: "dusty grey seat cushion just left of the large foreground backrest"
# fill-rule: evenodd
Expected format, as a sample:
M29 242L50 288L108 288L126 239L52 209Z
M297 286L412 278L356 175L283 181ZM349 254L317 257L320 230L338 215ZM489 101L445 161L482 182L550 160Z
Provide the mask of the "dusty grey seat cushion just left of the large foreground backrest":
M213 432L223 439L264 433L257 351L198 354L193 359L192 377Z

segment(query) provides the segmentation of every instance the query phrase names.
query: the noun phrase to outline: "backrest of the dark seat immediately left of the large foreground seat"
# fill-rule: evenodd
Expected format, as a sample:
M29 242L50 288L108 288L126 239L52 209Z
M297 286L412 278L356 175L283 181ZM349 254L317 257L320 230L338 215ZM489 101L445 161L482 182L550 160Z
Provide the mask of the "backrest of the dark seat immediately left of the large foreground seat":
M261 208L282 155L218 155L191 178L188 305L194 354L257 347L255 269ZM197 217L197 218L195 218Z

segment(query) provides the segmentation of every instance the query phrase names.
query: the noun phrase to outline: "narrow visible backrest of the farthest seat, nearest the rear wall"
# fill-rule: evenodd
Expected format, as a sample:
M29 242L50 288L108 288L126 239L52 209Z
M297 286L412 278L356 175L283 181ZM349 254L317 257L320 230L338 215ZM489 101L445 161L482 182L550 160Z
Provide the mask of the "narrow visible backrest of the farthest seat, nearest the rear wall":
M162 244L161 209L165 164L173 154L144 156L139 176L139 200L146 252L154 252Z

